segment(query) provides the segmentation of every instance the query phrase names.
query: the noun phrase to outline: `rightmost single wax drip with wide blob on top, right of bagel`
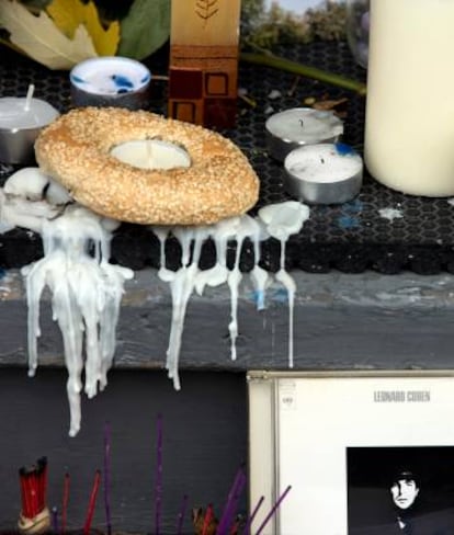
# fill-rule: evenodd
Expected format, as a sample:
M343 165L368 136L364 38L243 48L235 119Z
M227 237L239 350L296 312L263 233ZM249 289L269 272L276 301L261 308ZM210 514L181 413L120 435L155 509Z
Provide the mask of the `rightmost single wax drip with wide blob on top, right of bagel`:
M305 204L296 201L287 201L281 204L264 206L259 210L259 217L266 226L266 230L273 238L281 242L281 268L275 277L286 288L288 294L288 367L293 367L294 348L294 303L296 284L285 270L285 246L288 238L299 232L303 224L308 219L310 210Z

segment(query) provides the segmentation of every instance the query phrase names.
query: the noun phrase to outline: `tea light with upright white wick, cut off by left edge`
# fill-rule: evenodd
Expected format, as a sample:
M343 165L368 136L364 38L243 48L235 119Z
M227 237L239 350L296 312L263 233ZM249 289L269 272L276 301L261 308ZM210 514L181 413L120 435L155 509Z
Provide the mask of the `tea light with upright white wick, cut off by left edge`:
M48 102L33 98L34 86L26 96L0 99L0 161L30 163L34 161L34 144L41 130L59 112Z

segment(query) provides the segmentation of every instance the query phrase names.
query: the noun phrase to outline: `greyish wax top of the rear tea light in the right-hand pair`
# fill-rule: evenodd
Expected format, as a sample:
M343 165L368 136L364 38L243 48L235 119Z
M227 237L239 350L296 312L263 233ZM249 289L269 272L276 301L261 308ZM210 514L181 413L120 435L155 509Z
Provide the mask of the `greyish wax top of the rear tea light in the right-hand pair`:
M297 144L313 144L337 138L343 133L342 121L332 112L294 107L266 119L266 129L274 137Z

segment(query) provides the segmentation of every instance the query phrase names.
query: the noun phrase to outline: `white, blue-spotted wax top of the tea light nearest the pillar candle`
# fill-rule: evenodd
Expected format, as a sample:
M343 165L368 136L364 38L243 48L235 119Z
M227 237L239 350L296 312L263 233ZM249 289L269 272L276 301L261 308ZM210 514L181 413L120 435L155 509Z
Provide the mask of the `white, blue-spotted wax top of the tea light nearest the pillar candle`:
M363 166L361 156L336 147L320 144L296 149L286 157L285 168L295 178L318 183L341 182L360 173Z

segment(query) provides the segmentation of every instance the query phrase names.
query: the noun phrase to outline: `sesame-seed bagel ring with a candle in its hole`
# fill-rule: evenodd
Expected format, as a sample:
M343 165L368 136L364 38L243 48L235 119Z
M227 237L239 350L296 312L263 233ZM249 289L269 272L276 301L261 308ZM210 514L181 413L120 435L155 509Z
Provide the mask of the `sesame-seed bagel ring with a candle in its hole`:
M126 141L183 148L190 167L140 169L111 155ZM93 212L144 225L206 225L240 215L258 200L245 155L219 134L154 113L81 107L58 117L35 143L39 168Z

